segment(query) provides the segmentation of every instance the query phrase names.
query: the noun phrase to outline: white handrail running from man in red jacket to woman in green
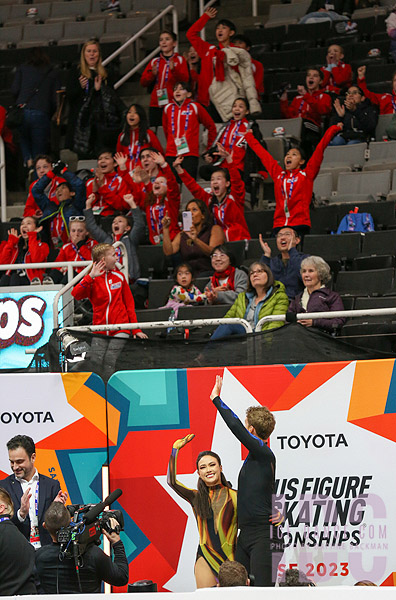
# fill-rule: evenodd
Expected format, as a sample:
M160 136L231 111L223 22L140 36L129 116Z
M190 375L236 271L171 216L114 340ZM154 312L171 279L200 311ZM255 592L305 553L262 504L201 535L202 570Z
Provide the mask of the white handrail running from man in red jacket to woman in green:
M253 333L250 323L245 319L184 319L183 321L144 321L143 323L117 323L115 325L73 325L72 327L63 327L57 333L60 337L65 331L86 331L95 333L95 331L121 331L132 329L168 329L169 327L192 327L199 325L242 325L246 333Z

